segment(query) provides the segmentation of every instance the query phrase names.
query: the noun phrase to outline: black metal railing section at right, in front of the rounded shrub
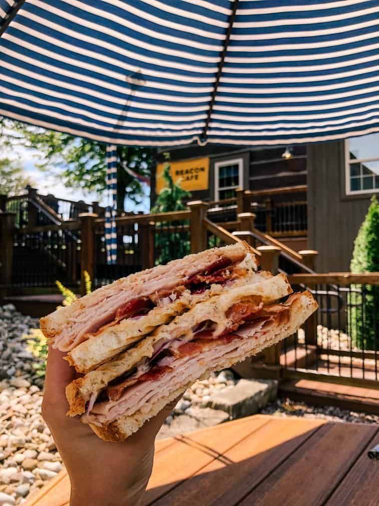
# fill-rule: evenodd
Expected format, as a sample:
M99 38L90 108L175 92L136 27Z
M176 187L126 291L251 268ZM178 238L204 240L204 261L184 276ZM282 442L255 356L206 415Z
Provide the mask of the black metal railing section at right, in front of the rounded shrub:
M313 326L283 342L283 367L377 381L379 285L320 283L308 289L319 308L311 317Z

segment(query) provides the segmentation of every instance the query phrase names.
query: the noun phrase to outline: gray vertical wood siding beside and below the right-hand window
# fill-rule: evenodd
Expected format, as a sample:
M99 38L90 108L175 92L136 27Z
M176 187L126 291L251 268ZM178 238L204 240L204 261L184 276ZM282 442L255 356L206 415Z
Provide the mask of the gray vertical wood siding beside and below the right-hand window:
M350 271L371 195L346 196L344 141L308 146L308 245L320 273Z

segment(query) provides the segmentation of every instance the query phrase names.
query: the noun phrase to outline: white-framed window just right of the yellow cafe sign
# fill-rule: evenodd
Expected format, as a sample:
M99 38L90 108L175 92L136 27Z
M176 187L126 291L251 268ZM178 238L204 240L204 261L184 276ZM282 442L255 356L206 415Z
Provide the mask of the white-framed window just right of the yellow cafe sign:
M242 158L215 163L215 200L235 197L235 190L243 187Z

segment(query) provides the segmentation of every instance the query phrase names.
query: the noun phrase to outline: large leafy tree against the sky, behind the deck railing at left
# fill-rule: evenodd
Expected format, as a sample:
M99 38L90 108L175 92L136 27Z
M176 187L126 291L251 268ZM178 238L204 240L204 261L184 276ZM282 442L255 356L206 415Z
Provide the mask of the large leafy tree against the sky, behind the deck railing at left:
M80 187L84 192L99 194L106 189L106 144L5 118L0 126L5 146L24 146L43 153L44 159L36 166L57 177L67 188ZM117 155L117 207L124 210L125 198L138 204L144 197L143 186L127 170L149 178L153 149L117 146Z

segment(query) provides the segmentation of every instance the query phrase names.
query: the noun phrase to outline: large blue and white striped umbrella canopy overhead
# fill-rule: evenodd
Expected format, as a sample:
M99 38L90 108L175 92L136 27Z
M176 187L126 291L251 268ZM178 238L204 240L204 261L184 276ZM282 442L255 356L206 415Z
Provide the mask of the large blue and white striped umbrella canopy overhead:
M379 130L377 0L0 0L0 18L10 118L149 146Z

